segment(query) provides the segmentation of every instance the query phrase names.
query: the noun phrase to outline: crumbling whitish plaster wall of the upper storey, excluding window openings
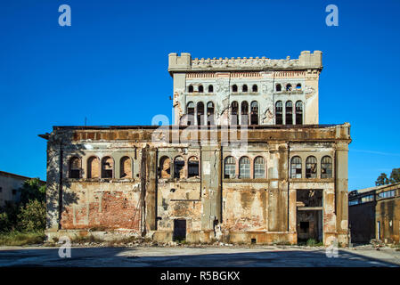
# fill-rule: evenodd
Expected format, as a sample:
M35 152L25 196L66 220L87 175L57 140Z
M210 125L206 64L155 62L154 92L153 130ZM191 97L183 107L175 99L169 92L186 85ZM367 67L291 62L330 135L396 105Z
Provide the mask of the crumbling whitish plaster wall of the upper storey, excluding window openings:
M318 124L318 80L322 69L322 53L302 52L298 60L269 59L219 59L192 60L190 53L169 54L168 70L174 80L175 124L185 124L181 118L186 114L188 102L214 102L216 125L230 124L230 106L233 101L258 102L258 124L275 124L275 103L282 101L283 114L285 103L293 103L293 122L295 122L295 103L303 102L303 123ZM249 91L243 93L242 85L248 85ZM257 85L257 92L252 92L252 85ZM276 85L282 85L282 91L276 91ZM286 85L292 91L286 91ZM301 88L296 89L300 84ZM193 93L189 93L189 85ZM204 92L199 93L199 86ZM208 85L213 85L213 93L208 93ZM238 92L233 93L232 86L238 85ZM239 118L240 124L241 117ZM285 124L285 116L283 116Z

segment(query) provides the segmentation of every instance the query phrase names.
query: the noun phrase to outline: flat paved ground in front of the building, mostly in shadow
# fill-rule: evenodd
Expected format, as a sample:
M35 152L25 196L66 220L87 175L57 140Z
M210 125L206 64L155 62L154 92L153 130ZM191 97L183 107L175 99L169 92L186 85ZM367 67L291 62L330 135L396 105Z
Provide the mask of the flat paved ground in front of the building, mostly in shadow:
M2 247L0 266L161 266L161 267L324 267L400 266L400 251L394 248L339 248L337 257L325 248L290 246L236 247L79 247L70 258L61 258L59 248Z

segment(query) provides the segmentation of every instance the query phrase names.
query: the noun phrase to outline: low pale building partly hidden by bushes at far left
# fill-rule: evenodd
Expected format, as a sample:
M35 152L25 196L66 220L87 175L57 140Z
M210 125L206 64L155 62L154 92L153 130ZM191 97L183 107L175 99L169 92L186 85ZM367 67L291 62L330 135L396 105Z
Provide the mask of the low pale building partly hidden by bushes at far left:
M0 208L4 207L7 201L13 203L20 201L20 191L18 189L29 179L32 178L0 171ZM40 181L40 183L45 185L45 181Z

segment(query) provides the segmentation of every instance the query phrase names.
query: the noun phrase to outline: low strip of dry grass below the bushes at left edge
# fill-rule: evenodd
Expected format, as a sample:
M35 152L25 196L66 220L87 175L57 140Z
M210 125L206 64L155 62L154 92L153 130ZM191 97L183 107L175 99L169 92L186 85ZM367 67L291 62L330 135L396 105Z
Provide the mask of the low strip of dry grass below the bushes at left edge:
M0 234L0 246L26 246L42 244L45 232L6 232Z

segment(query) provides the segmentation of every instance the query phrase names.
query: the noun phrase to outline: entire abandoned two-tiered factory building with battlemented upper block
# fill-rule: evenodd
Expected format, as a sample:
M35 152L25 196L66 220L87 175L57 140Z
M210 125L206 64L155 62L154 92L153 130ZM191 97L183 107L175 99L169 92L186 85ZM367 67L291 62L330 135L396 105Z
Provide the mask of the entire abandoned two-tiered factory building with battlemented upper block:
M175 124L54 126L47 236L348 242L350 126L318 124L322 53L170 53Z

